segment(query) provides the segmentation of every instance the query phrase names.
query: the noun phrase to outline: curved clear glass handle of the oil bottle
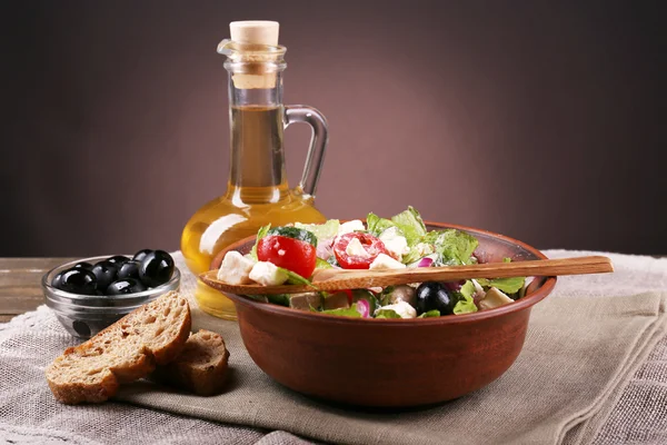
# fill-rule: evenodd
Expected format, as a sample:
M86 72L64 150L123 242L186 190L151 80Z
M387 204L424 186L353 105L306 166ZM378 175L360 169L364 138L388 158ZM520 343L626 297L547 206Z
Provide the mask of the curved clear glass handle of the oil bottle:
M315 199L317 182L322 171L325 151L329 142L329 126L325 116L312 107L302 105L288 105L285 107L285 128L291 123L305 122L312 130L310 147L306 156L303 175L296 191L307 199Z

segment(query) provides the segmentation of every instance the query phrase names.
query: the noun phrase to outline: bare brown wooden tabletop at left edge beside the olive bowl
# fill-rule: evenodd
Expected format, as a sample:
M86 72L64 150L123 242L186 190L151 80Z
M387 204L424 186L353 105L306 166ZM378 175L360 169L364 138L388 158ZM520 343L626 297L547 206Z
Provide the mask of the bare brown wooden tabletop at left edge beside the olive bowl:
M73 258L0 258L0 323L44 303L42 276Z

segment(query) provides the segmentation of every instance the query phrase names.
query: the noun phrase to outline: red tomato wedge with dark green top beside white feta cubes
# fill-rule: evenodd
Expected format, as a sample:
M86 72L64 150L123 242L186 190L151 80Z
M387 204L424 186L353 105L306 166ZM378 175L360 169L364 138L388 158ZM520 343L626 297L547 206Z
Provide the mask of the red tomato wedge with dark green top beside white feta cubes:
M257 244L257 259L309 278L315 270L317 256L315 246L300 239L282 235L268 235Z

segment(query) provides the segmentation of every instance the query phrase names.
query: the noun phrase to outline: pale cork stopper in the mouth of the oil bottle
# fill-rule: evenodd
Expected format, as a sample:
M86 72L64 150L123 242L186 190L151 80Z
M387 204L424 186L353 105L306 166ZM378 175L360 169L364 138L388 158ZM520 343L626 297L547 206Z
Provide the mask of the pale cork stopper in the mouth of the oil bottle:
M278 46L280 23L270 20L243 20L229 23L231 41L242 44ZM260 57L258 62L270 61L271 57ZM275 88L276 73L251 75L235 73L233 85L239 89Z

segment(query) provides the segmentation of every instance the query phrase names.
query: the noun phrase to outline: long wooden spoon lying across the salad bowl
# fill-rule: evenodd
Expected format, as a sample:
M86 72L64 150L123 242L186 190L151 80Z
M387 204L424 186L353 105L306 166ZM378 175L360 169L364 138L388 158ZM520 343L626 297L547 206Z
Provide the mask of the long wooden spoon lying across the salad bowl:
M362 289L422 281L456 281L468 278L508 278L559 275L603 274L614 271L611 260L601 256L538 259L516 263L486 263L470 266L416 267L391 270L323 269L316 274L312 286L230 285L217 278L218 270L199 276L207 285L238 295L297 294L312 290Z

